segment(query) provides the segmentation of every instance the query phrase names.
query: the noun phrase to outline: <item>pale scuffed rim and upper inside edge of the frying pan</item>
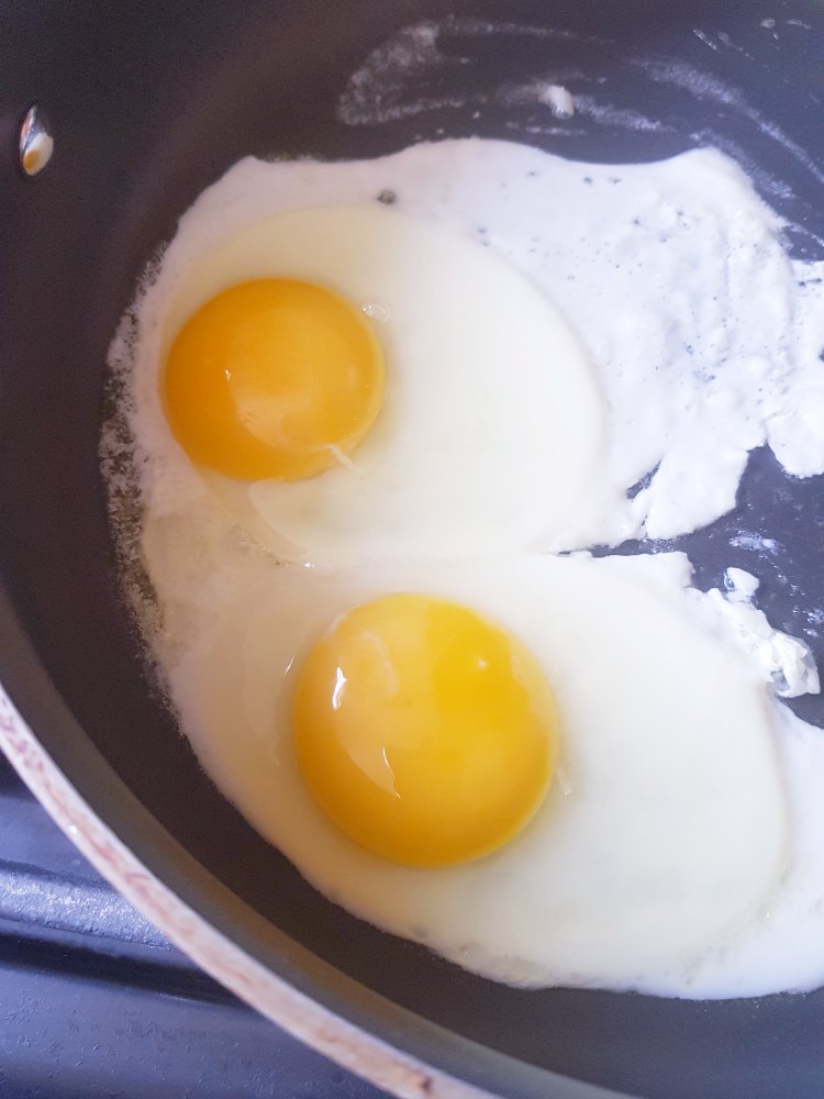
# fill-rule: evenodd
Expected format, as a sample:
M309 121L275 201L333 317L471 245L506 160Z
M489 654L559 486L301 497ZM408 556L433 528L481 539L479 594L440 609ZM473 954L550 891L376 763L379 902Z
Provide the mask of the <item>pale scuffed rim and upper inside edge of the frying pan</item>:
M82 745L82 761L73 766L46 750L33 731L45 728L45 721ZM633 1099L520 1062L416 1015L318 958L255 912L167 832L92 745L1 585L0 750L58 828L147 920L238 999L343 1068L399 1099ZM92 797L107 787L116 812ZM130 831L143 835L140 855L124 837ZM187 873L172 887L176 866ZM248 946L231 934L230 899L244 918ZM265 957L255 923L281 946L277 964Z

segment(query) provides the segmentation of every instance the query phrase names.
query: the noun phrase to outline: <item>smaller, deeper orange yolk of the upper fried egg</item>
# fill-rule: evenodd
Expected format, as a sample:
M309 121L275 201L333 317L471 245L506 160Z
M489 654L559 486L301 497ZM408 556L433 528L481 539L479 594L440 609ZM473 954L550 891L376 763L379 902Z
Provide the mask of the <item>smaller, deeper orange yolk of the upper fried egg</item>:
M358 445L383 380L380 345L354 306L269 278L224 290L187 321L163 397L192 462L244 480L300 480Z

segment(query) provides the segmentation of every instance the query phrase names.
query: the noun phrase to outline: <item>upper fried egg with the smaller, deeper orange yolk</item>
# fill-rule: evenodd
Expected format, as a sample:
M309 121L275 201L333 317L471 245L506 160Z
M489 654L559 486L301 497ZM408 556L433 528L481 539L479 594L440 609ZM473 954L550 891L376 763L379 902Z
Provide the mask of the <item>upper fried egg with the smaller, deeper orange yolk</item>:
M541 548L569 521L604 409L514 267L378 202L277 213L214 246L202 229L183 219L153 288L149 375L259 545L339 566Z

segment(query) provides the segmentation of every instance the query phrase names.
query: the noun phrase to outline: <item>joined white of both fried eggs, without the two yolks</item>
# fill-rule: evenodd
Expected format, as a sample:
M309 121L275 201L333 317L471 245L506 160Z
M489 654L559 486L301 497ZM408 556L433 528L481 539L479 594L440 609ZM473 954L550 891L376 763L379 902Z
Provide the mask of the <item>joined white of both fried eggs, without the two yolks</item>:
M398 202L383 210L375 199L388 187ZM780 362L773 334L788 331L768 308L783 300L775 273L786 266L773 222L712 151L616 170L483 141L347 164L247 159L181 220L110 356L127 379L142 558L131 502L122 517L115 507L115 536L181 729L221 790L327 896L513 983L725 996L824 980L817 731L787 712L770 730L776 710L758 671L693 620L678 584L661 585L664 557L523 554L669 535L730 506L760 439L756 367ZM390 263L394 245L387 251L396 234L402 269ZM728 268L743 288L735 309ZM341 495L327 499L324 478L301 496L204 476L171 437L158 397L168 341L211 293L268 274L311 278L372 307L388 358L404 364L372 440L391 458L397 498L366 445L355 458L376 492L356 491L346 467L330 475ZM467 309L469 290L482 310ZM433 318L437 330L423 332ZM414 328L410 344L404 324ZM456 351L443 360L442 331ZM514 352L525 333L522 363ZM608 395L605 420L578 338ZM808 342L817 364L821 344ZM413 346L432 351L420 375L405 370ZM552 348L563 352L555 360ZM464 353L486 363L483 386ZM713 400L697 401L704 381L693 354L719 373ZM490 432L486 447L472 445L476 414ZM123 445L118 432L105 443L115 501L131 492ZM656 467L650 487L625 491ZM271 551L371 564L280 568ZM465 562L423 562L449 554ZM144 568L156 606L144 599ZM398 587L463 599L509 626L544 662L568 728L536 821L466 867L408 870L360 852L330 829L293 771L285 669L339 610Z

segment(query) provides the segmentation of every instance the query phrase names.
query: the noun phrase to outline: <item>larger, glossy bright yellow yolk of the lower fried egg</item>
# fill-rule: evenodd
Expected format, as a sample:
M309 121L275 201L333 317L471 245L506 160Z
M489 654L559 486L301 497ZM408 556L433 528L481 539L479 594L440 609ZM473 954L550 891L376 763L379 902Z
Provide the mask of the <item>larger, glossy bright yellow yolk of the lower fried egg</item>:
M511 840L557 757L531 653L468 608L393 595L343 614L296 685L298 765L326 815L394 863L448 866Z

